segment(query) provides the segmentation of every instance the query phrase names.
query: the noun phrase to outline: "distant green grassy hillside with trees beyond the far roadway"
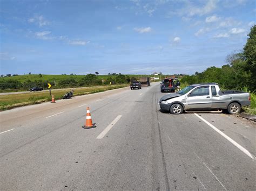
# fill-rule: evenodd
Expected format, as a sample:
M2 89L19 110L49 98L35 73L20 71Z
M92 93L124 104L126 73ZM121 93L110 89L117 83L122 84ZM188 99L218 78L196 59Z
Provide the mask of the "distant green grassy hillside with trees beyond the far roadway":
M48 75L48 74L27 74L17 76L5 76L0 77L0 92L10 91L24 91L31 87L43 87L47 88L48 83L52 84L52 89L59 88L73 88L73 87L89 87L89 86L102 86L107 85L110 82L112 84L127 84L130 81L138 80L140 77L153 77L154 75L124 75L124 74L112 74L112 75ZM164 79L170 75L157 75ZM56 82L56 86L54 86Z

